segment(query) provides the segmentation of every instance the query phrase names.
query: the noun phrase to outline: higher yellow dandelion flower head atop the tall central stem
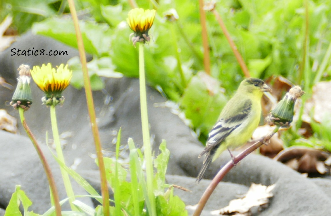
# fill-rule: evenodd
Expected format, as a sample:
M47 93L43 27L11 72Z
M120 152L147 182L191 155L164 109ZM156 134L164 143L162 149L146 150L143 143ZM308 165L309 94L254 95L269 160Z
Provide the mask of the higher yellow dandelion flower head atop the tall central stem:
M134 8L129 11L128 18L126 18L129 27L135 32L132 37L133 45L136 42L150 41L148 30L152 27L156 11L144 10L142 8Z

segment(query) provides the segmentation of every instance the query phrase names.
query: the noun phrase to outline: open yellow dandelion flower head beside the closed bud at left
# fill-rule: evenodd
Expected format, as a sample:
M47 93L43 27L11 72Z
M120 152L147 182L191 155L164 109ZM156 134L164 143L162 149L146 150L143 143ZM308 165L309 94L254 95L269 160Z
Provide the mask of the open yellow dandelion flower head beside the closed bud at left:
M52 68L50 63L43 64L41 67L34 66L30 73L37 86L45 92L43 102L50 105L52 100L52 104L54 101L59 102L60 100L61 104L62 92L68 87L72 77L72 71L68 69L68 65L61 64L57 68ZM46 101L48 102L46 103Z

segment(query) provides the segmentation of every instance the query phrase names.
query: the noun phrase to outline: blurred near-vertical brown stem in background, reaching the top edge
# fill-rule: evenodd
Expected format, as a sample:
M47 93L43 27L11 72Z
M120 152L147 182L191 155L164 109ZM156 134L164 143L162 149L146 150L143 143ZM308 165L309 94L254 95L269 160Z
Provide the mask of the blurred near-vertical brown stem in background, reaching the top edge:
M210 75L210 56L209 56L208 34L207 34L207 24L206 24L206 11L203 9L203 7L204 7L204 1L199 0L202 46L204 48L204 66L205 66L205 72Z

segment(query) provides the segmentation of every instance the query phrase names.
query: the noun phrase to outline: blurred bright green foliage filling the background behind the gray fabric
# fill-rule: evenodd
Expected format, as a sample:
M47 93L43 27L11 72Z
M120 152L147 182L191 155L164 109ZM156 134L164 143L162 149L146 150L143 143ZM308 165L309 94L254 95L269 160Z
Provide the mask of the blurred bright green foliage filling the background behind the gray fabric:
M126 24L131 9L128 2L82 0L75 3L80 10L85 50L94 57L89 66L93 69L90 74L93 88L104 87L100 75L138 77L138 51L129 42L132 31ZM153 8L147 0L138 0L137 4L145 9ZM31 28L34 33L77 47L72 20L66 15L69 13L66 1L3 0L0 7L6 12L2 12L0 18L12 14L13 25L19 32ZM219 81L214 89L217 94L211 94L206 81L198 76L198 72L204 70L198 1L160 0L157 7L149 32L152 40L145 45L148 83L179 103L204 142L221 108L243 79L243 73L214 15L207 12L211 76ZM179 15L176 22L164 18L164 13L171 8ZM215 10L223 18L252 77L266 79L282 75L295 84L305 85L309 96L331 40L330 1L223 0L217 2ZM306 18L308 40L305 40ZM180 62L174 44L178 46ZM79 63L77 60L69 63L77 72L72 84L80 88ZM178 71L179 63L184 82ZM330 67L326 67L322 79L330 80L330 74Z

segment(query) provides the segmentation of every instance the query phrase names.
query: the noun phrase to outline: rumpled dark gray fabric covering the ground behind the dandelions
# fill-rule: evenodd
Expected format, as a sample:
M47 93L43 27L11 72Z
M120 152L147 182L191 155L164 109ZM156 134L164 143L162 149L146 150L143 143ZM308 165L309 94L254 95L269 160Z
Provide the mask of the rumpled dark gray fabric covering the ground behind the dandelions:
M20 49L24 49L24 47L27 49L31 46L35 49L45 49L46 47L52 49L53 47L70 50L68 52L70 56L19 57L10 56L11 48L7 49L0 53L0 75L14 86L16 85L16 70L23 63L33 66L52 62L56 65L65 63L70 57L77 55L77 51L72 48L50 38L34 36L30 33L12 45L12 47L20 47ZM104 81L105 89L93 92L103 148L107 154L111 154L115 148L112 140L117 136L114 132L118 131L119 127L122 127L121 145L123 148L128 137L132 137L135 144L141 146L138 80L121 78L105 79ZM66 193L61 183L59 167L45 144L46 131L49 132L49 137L52 137L49 108L41 105L40 98L43 93L38 87L32 83L31 88L34 102L25 114L26 121L49 160L60 198L63 199L66 197ZM195 177L202 165L203 159L198 159L198 155L203 150L203 145L192 135L189 127L177 115L172 114L170 108L160 106L165 99L156 90L147 87L147 93L150 133L154 137L154 149L158 149L158 144L165 139L167 148L170 150L166 180L168 184L190 189L192 192L175 189L175 193L187 205L194 205L210 182L210 180L202 180L200 184L195 183ZM18 111L8 106L12 94L13 91L0 86L0 108L6 109L11 115L18 118ZM71 165L75 159L81 159L77 172L97 190L100 190L98 168L91 157L95 149L84 90L77 90L69 86L65 90L64 96L66 98L64 106L57 107L57 119L60 134L72 133L71 137L66 138L68 143L64 148L66 163ZM0 206L5 208L14 192L15 185L19 184L33 201L30 210L43 213L50 207L47 179L31 142L26 137L22 126L20 124L18 126L21 135L0 131ZM124 153L123 157L126 156L127 153ZM219 167L229 159L228 152L224 152L219 159L212 163L205 178L213 178ZM259 215L331 215L330 180L307 179L285 165L263 156L249 155L225 176L224 181L227 182L220 183L214 191L203 215L210 215L210 210L226 206L229 200L236 198L236 194L245 193L252 182L263 185L276 184L276 188L273 190L274 197L270 200L269 207ZM75 194L87 194L76 184L74 184L74 191ZM92 201L89 199L85 199L84 202L92 205ZM189 212L192 214L191 210Z

